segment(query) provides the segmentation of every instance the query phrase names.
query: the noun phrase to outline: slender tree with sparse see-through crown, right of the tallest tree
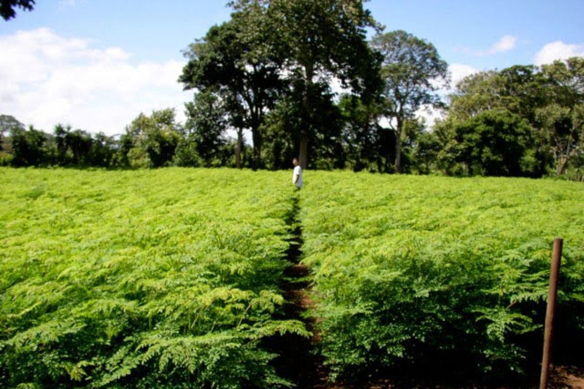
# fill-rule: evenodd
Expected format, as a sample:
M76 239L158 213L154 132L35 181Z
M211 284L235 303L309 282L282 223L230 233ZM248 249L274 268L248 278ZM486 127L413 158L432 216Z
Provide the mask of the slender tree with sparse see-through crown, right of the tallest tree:
M436 91L448 82L448 65L432 43L406 31L377 34L371 45L383 54L384 115L395 131L395 171L401 173L405 123L420 107L441 105Z

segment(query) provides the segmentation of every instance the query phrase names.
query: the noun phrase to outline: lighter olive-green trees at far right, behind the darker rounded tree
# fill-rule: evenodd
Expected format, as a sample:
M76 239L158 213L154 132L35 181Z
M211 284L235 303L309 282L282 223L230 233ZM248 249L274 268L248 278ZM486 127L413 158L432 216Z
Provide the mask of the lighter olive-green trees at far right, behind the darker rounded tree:
M553 171L555 176L561 176L566 169L582 168L583 84L584 60L578 57L541 67L516 65L499 72L475 73L461 80L450 96L447 122L465 127L487 111L517 115L530 125L522 136L526 142L517 139L524 143L523 174L541 177ZM444 127L443 124L438 127L441 126ZM446 145L453 140L453 132L448 134L443 130L439 128L438 135L444 149L449 149ZM480 139L480 134L475 138ZM513 158L510 150L502 151ZM438 162L449 170L453 159L450 151L444 150ZM514 169L507 166L506 170ZM566 177L577 179L578 174Z

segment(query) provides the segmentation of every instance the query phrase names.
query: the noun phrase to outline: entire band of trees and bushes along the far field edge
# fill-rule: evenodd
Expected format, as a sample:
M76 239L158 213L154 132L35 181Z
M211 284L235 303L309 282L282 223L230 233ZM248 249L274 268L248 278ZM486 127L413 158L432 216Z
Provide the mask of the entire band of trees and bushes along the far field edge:
M361 2L230 6L231 19L184 52L177 77L194 94L184 123L171 108L156 110L107 136L26 128L6 113L0 164L276 170L300 156L309 169L583 180L584 58L450 86L432 43L384 32ZM422 110L442 119L427 123Z

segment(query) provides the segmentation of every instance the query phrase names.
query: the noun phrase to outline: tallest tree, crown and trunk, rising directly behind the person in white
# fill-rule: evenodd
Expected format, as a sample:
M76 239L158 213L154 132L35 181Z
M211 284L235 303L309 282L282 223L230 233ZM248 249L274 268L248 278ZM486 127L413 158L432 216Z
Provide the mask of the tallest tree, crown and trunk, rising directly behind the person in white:
M361 0L237 0L235 13L261 9L259 24L284 58L283 78L293 96L301 96L299 156L307 166L308 141L318 132L322 96L332 77L353 90L376 85L375 55L367 46L368 27L377 28ZM255 26L254 26L255 27ZM325 86L325 87L323 87Z

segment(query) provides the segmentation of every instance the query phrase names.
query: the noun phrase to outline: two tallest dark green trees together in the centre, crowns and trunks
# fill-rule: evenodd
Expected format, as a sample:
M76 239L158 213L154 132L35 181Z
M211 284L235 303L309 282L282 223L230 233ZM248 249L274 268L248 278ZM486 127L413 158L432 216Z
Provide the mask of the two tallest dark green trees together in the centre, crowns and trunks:
M334 120L322 117L327 110L318 111L326 100L333 104L331 79L356 92L376 86L377 72L371 69L377 57L367 45L366 30L378 28L377 23L361 1L238 0L230 5L231 20L190 45L180 81L187 89L215 88L230 100L232 125L238 122L252 132L256 167L262 166L266 114L277 101L293 101L301 109L296 124L288 125L294 133L289 135L298 138L306 167L308 143L318 143L320 123Z

